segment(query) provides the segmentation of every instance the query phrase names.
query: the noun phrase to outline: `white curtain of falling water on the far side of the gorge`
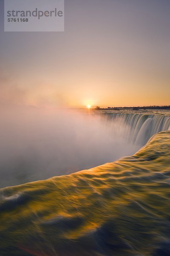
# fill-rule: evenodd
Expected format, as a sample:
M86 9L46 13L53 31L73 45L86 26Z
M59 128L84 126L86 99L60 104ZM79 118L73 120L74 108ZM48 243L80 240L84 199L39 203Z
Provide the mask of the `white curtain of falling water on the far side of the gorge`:
M139 113L102 113L130 142L144 145L154 134L170 130L170 116Z

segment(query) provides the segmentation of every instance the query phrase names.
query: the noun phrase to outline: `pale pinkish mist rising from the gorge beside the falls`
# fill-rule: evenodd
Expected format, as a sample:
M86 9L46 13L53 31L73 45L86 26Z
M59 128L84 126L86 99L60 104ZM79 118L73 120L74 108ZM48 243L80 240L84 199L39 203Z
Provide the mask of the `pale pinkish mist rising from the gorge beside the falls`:
M2 106L0 187L14 186L112 162L139 145L88 111Z

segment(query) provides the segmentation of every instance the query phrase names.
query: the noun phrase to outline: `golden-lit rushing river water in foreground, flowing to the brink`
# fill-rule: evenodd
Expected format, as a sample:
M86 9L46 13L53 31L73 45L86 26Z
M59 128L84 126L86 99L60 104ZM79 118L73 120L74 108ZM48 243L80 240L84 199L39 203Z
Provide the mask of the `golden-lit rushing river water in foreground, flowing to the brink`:
M169 256L170 131L136 154L0 190L0 256Z

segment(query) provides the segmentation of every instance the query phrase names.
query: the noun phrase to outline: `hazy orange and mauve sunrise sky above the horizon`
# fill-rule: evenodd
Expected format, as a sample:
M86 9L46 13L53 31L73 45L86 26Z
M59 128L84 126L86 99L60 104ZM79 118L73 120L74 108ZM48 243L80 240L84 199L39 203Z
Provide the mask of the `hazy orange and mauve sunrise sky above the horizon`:
M170 105L170 0L65 0L65 32L4 32L0 103Z

